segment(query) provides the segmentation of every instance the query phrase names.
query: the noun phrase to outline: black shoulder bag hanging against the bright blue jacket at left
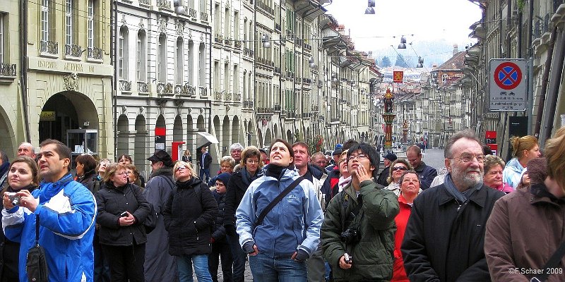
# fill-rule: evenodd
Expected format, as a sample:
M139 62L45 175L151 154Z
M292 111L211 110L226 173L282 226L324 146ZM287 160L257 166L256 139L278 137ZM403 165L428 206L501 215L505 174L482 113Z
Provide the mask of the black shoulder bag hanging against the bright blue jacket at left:
M40 246L40 216L38 215L35 215L35 245L28 250L25 272L28 274L28 281L31 282L47 282L49 276L45 250Z

